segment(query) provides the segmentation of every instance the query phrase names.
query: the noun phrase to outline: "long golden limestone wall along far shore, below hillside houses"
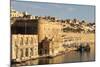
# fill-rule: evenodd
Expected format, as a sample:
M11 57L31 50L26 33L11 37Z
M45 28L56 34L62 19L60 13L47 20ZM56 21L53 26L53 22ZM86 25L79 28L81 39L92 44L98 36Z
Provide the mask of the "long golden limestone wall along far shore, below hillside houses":
M63 40L66 40L66 42L95 42L95 33L67 32L63 33L63 35L65 35Z

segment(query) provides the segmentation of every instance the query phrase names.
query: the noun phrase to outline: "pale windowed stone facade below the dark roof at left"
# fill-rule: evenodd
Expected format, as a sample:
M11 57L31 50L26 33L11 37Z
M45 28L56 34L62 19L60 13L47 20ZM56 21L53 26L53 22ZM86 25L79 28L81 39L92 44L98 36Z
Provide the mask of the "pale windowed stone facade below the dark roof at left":
M12 35L12 59L25 61L38 58L38 35Z

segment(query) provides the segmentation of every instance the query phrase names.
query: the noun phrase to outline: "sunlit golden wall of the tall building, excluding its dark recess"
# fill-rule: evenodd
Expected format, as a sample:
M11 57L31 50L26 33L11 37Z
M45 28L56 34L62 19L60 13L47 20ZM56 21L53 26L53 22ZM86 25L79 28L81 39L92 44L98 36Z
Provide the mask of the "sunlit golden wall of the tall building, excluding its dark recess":
M62 51L62 25L58 22L51 22L44 19L39 20L38 36L39 42L45 37L51 39L49 45L49 55L57 55Z

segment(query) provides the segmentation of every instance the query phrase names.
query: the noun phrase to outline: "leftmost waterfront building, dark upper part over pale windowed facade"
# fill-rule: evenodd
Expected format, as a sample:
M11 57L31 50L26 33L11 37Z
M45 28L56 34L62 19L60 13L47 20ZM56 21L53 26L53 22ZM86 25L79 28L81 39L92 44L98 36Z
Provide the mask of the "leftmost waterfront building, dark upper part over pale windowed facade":
M38 58L37 20L16 19L11 25L12 60Z

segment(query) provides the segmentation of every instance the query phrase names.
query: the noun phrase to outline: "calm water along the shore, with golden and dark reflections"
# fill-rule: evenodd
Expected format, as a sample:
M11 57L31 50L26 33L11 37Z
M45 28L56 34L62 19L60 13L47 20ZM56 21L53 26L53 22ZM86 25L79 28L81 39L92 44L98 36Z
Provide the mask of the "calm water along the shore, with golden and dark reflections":
M95 46L94 43L90 43L90 52L78 52L71 51L65 55L57 56L54 58L39 58L36 60L29 60L21 64L12 64L16 66L27 66L27 65L43 65L43 64L58 64L58 63L72 63L72 62L85 62L95 60Z

